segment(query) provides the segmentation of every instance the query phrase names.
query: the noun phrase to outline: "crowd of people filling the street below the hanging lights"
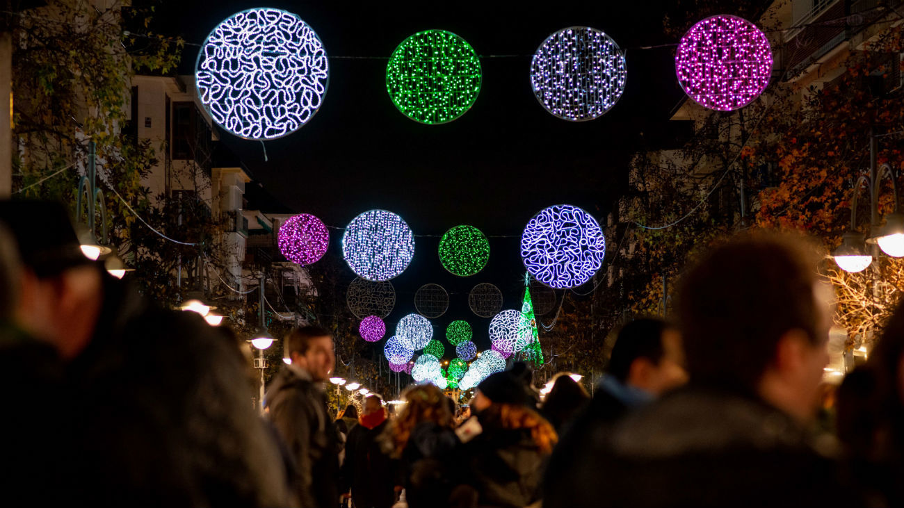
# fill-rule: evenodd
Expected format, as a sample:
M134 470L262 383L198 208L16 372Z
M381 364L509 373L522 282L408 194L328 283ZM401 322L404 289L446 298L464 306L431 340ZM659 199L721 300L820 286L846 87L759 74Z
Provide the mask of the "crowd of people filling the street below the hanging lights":
M592 397L569 372L541 397L513 362L466 404L417 384L394 414L369 394L336 415L334 337L299 327L261 417L227 328L106 276L61 206L0 202L0 492L7 505L904 505L904 306L837 391L835 428L815 425L833 316L816 252L767 234L711 249L673 322L621 329Z

